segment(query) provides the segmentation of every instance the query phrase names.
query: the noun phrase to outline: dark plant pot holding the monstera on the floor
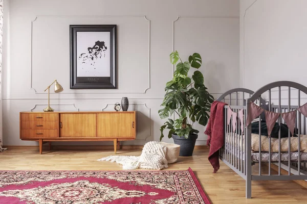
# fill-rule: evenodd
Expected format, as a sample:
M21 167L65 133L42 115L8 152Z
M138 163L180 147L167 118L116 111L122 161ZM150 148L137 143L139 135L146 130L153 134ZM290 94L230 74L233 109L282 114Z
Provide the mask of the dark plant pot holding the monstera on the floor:
M184 136L179 137L178 135L171 135L171 137L174 139L175 144L180 145L179 156L189 157L193 155L193 150L196 139L198 138L198 134L189 135L188 138L185 138Z

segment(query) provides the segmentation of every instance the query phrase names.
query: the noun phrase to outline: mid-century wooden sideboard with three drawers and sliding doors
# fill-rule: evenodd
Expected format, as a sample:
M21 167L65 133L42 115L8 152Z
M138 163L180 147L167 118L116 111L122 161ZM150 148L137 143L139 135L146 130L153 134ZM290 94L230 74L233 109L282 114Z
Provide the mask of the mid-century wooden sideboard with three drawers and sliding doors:
M20 139L42 144L54 141L119 141L136 138L135 111L20 112Z

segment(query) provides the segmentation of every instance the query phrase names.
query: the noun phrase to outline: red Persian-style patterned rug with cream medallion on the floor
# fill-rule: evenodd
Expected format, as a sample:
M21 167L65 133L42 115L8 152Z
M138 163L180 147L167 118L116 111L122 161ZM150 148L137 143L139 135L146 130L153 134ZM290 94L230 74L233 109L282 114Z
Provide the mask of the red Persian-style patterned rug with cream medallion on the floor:
M210 201L187 171L0 171L0 203L108 204Z

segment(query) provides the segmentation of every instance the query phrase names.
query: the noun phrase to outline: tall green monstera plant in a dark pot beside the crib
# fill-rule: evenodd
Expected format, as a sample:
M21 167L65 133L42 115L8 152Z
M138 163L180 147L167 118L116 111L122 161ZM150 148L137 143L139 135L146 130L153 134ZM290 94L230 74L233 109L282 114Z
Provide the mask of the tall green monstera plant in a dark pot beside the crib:
M214 98L204 85L202 72L197 70L202 65L200 54L194 53L183 62L177 51L172 52L170 62L176 64L176 71L173 79L166 83L163 108L159 110L161 119L168 118L160 128L160 141L163 131L168 129L168 138L172 137L174 143L180 145L180 156L192 156L199 133L193 124L196 121L204 126L208 123ZM196 70L190 77L191 67Z

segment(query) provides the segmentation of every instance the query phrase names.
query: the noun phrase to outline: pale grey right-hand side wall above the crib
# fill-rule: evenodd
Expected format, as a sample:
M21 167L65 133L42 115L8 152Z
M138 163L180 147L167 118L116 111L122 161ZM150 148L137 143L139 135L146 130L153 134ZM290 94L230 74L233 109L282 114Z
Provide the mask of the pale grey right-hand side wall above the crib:
M240 1L240 85L289 80L307 86L305 0Z

